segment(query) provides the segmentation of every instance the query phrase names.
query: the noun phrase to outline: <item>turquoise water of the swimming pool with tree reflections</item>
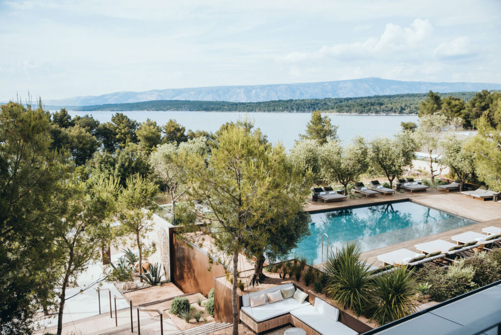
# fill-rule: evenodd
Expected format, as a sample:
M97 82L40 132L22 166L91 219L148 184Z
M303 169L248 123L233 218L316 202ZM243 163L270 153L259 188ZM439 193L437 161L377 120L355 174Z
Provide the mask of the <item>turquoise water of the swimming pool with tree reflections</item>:
M409 201L312 214L311 234L293 251L313 264L321 262L322 234L341 246L356 242L362 251L464 227L474 221ZM327 245L327 240L324 238ZM325 249L324 249L325 254Z

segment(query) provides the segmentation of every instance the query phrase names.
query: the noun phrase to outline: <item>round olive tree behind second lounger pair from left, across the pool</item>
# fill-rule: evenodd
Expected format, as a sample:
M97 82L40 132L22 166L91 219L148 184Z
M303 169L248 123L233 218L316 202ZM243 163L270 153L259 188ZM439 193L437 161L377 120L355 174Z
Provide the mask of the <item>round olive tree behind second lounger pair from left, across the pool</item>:
M412 165L412 159L415 157L415 143L408 131L394 138L374 138L370 141L369 147L371 168L374 172L386 176L390 188L393 186L393 180L402 176L404 168Z

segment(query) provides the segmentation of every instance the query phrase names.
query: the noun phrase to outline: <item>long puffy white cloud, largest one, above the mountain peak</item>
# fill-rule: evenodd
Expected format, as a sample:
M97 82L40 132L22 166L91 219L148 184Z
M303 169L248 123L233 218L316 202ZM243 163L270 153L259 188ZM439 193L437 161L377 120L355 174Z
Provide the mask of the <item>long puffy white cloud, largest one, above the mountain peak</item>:
M389 23L379 38L369 38L364 42L340 43L323 46L315 52L291 52L283 57L288 62L318 60L325 57L374 57L401 50L412 50L431 35L433 27L428 20L415 19L408 28Z

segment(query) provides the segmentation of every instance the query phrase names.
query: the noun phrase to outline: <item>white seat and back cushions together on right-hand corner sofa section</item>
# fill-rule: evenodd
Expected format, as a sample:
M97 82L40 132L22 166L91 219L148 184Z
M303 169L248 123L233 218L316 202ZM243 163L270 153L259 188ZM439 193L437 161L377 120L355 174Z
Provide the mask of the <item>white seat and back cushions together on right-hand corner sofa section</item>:
M317 304L319 304L318 307ZM315 298L315 307L310 305L294 309L291 311L291 315L295 316L321 334L358 335L358 332L355 330L339 321L334 320L332 318L334 315L333 309L336 309L337 313L339 313L339 310L331 305L325 306L325 304L327 304L327 302L319 298ZM336 317L337 315L338 314L336 314Z

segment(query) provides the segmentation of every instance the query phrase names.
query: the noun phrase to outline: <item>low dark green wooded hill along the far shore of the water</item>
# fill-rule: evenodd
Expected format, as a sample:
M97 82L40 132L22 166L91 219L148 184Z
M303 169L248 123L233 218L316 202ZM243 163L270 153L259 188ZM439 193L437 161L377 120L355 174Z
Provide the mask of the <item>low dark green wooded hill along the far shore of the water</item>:
M476 92L456 92L453 95L469 100ZM185 110L185 111L238 111L238 112L311 112L319 109L333 113L358 114L414 114L425 93L378 95L359 98L326 98L300 100L273 100L264 102L155 100L134 103L94 106L72 106L73 110L129 111L129 110Z

